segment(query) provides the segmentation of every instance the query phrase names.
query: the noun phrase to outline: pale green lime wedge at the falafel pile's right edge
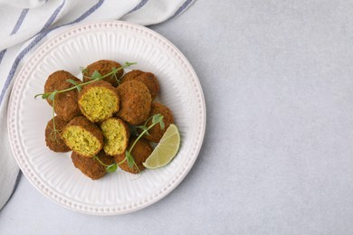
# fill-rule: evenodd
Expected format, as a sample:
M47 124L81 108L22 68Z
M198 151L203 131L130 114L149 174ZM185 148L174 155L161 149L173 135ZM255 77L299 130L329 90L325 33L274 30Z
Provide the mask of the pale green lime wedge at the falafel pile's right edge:
M166 133L162 136L159 144L155 147L151 155L148 156L143 165L148 169L162 167L176 156L180 146L180 134L176 125L170 124Z

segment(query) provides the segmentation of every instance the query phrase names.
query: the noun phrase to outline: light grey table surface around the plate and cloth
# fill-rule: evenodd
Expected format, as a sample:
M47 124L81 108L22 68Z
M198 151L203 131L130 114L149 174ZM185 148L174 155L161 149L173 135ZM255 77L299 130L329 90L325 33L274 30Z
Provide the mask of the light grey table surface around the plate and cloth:
M196 1L152 26L205 93L196 164L163 200L97 217L24 178L0 234L352 234L353 2Z

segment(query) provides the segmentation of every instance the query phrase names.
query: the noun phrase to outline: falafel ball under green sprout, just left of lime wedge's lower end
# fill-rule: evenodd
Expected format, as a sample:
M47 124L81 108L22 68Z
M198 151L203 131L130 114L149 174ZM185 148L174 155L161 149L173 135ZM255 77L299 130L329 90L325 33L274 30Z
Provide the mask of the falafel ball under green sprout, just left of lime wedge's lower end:
M136 140L136 137L130 138L128 149L133 145L135 140ZM149 144L149 142L145 139L140 138L131 151L131 155L134 158L136 165L134 164L133 167L129 167L127 160L122 162L125 159L125 154L114 155L114 161L117 164L122 162L121 164L119 164L119 167L122 170L132 174L138 174L146 168L142 163L144 163L146 159L148 159L148 156L151 155L152 151L153 151L153 148Z

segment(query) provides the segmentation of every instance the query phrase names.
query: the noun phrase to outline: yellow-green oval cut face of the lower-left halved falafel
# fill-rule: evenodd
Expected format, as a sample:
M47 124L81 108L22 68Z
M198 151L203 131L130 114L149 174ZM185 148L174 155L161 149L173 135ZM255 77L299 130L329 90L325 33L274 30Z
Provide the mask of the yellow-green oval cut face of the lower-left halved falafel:
M82 127L68 127L62 133L67 146L81 155L95 155L100 151L100 141Z

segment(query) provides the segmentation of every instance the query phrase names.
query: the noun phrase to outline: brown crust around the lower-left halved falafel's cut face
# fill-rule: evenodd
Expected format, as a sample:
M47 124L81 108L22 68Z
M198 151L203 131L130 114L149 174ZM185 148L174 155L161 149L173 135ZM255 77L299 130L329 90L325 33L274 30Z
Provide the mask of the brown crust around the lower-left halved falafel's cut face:
M80 117L77 117L77 118L73 118L68 125L66 125L66 127L63 129L62 131L62 135L65 131L67 131L67 129L69 127L81 127L83 129L85 129L86 131L90 132L92 136L95 136L97 138L97 140L100 142L100 147L99 147L99 150L96 151L95 153L93 153L92 155L97 155L100 150L102 149L103 147L103 134L101 133L101 130L99 127L97 127L97 125L95 125L94 123L92 123L89 119L83 117L83 116L80 116ZM67 140L65 138L63 138L66 146L71 146ZM82 155L82 153L79 153ZM92 155L85 155L85 156L88 156L88 157L91 157Z

